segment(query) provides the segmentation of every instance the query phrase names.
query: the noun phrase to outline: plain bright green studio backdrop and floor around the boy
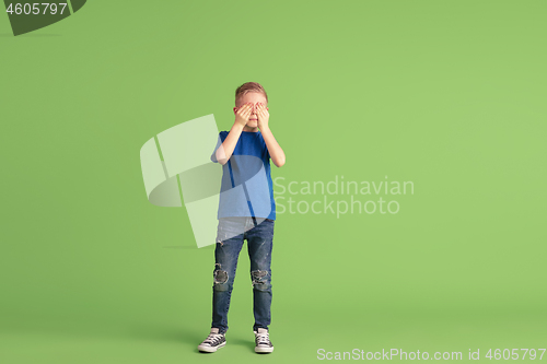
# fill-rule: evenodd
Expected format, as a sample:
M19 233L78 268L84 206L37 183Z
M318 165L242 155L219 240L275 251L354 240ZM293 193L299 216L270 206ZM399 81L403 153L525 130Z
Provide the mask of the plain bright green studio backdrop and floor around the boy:
M18 37L0 15L0 361L546 348L546 11L95 0ZM213 246L196 248L184 208L147 200L139 150L203 115L229 130L247 81L287 154L274 178L387 176L415 193L397 214L278 214L275 352L254 353L244 246L228 345L199 354Z

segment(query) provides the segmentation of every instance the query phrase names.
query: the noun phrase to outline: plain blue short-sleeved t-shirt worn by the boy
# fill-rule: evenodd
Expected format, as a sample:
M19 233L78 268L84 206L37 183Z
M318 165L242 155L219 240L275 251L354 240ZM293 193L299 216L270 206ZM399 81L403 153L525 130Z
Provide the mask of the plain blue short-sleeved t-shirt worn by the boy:
M217 149L228 131L219 133L211 161L218 163ZM255 216L276 220L270 154L260 131L242 131L234 152L222 166L218 219Z

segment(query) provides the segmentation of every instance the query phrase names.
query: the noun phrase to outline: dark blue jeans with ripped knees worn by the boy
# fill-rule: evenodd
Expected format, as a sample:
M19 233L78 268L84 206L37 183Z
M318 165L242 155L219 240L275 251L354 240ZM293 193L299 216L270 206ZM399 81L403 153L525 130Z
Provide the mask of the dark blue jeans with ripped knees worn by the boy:
M228 309L235 278L237 257L247 240L253 281L254 330L268 329L271 320L271 248L274 220L260 218L219 219L217 247L214 249L214 283L212 286L212 328L228 330Z

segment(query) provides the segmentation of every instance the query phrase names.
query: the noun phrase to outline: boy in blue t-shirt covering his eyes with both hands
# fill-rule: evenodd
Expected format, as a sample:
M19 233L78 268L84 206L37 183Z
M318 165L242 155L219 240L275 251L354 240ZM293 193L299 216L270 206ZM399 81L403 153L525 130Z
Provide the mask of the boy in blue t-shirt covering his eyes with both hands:
M198 345L201 352L216 352L225 345L228 309L237 257L247 240L253 280L255 352L271 353L269 340L271 306L271 248L276 203L269 160L278 167L284 153L269 129L268 95L256 82L235 91L235 121L230 132L221 131L211 155L222 164L219 199L219 227L214 249L214 283L211 332Z

